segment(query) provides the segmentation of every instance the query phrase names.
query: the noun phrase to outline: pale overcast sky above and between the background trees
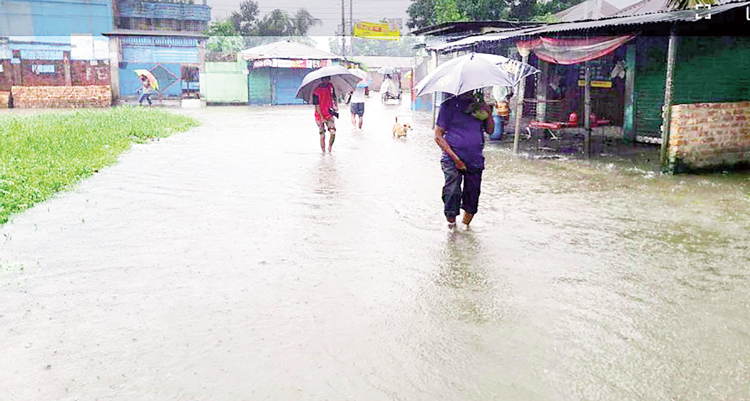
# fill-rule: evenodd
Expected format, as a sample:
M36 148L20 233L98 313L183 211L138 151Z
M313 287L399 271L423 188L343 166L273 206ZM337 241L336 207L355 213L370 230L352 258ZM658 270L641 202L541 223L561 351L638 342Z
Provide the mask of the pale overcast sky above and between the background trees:
M411 0L344 0L345 18L349 20L349 4L352 4L355 20L376 22L382 18L401 18L406 29L406 9ZM227 17L232 11L240 8L241 0L208 0L211 6L211 18ZM341 25L341 0L256 0L260 8L260 16L280 8L294 13L300 8L310 12L315 18L323 20L323 25L316 26L308 32L310 36L335 35L337 26Z

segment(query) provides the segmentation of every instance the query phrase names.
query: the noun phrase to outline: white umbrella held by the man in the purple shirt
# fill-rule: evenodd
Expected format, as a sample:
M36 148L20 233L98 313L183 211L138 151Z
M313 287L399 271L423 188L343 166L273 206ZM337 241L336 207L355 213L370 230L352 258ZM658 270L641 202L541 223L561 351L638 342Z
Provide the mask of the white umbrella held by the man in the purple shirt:
M486 86L515 86L538 69L503 56L471 53L439 65L415 87L417 96L433 92L460 95Z

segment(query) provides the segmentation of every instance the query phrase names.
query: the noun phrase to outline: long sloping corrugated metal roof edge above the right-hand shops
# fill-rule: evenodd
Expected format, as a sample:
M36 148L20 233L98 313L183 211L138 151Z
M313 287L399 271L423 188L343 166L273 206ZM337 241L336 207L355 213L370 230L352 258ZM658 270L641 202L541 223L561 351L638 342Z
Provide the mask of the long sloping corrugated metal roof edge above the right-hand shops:
M695 22L704 20L705 17L710 15L717 15L723 12L750 5L750 1L740 1L735 3L727 3L719 6L703 8L700 10L680 10L661 12L653 14L633 15L627 17L613 17L599 20L590 21L578 21L578 22L562 22L556 24L549 24L546 26L518 29L514 31L488 33L484 35L471 36L465 39L461 39L455 42L446 43L440 46L430 47L430 50L457 50L466 47L470 47L475 43L480 42L498 42L505 39L517 38L522 36L536 36L542 34L550 34L557 32L568 32L578 31L586 29L596 29L604 27L623 27L623 26L637 26L644 24L655 24L665 22Z

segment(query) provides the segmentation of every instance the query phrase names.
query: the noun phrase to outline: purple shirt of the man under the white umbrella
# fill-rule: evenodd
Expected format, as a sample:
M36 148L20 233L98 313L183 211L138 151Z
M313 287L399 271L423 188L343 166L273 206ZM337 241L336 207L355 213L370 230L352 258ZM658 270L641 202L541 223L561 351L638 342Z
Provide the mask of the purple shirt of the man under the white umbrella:
M466 113L471 103L471 99L460 97L448 99L440 107L436 124L445 130L445 140L468 167L483 169L484 134L482 133L482 122L470 113ZM443 152L442 159L451 160L445 152Z

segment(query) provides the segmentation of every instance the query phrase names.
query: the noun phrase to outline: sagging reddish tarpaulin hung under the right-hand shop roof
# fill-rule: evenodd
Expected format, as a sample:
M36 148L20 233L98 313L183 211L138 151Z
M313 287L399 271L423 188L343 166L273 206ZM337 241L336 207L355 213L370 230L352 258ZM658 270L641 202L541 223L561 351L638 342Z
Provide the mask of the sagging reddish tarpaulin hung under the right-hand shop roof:
M612 53L636 35L593 38L537 38L516 42L518 51L533 51L539 59L554 64L578 64Z

